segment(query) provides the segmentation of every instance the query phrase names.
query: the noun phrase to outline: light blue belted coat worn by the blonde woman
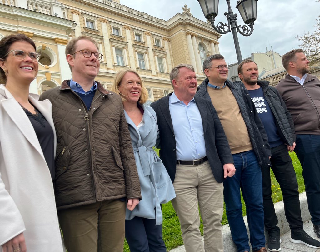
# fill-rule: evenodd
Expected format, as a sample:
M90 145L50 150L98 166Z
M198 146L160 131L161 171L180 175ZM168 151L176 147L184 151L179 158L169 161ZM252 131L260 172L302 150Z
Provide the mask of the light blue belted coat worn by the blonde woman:
M172 200L176 194L164 164L152 149L159 134L156 112L151 107L144 105L143 110L144 125L139 130L124 111L137 164L142 196L142 200L133 211L126 209L126 219L131 220L135 216L148 219L156 218L156 225L160 225L162 223L160 204Z

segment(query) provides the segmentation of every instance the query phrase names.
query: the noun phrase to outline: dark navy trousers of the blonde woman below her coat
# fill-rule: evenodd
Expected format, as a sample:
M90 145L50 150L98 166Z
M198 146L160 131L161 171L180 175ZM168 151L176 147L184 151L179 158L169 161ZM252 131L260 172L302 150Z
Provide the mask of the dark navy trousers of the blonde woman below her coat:
M162 239L162 224L156 219L134 217L125 220L125 239L131 252L166 252Z

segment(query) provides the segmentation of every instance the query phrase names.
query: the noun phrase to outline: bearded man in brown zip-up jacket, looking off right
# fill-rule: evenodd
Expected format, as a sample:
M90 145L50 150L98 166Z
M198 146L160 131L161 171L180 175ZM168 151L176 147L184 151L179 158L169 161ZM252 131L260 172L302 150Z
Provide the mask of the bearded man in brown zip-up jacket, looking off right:
M313 230L320 238L320 81L308 74L309 60L303 50L284 54L288 74L276 85L294 122L294 152L300 160Z

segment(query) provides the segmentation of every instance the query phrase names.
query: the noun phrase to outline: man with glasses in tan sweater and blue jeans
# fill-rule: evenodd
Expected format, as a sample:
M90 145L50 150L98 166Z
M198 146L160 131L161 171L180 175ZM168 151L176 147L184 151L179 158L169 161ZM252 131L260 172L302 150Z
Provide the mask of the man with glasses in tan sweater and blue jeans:
M242 217L240 188L246 204L253 251L265 252L262 176L260 167L269 167L271 156L267 134L252 100L242 85L227 80L229 66L220 54L204 60L208 77L196 97L204 97L215 107L226 133L236 173L224 182L224 201L233 241L237 250L250 251Z

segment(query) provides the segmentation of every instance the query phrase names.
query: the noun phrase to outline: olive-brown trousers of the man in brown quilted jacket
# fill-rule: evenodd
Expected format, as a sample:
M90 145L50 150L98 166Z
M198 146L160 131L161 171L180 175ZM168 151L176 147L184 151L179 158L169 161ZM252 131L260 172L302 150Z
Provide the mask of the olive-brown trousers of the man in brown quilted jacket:
M123 252L124 201L59 210L58 217L68 252Z

